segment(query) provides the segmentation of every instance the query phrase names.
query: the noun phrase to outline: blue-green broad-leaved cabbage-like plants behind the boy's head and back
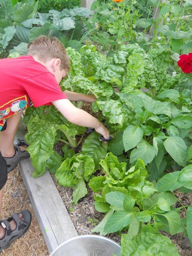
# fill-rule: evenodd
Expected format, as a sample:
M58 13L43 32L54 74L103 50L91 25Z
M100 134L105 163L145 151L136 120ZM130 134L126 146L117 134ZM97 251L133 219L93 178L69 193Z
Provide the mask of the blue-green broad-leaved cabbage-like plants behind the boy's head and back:
M64 3L65 2L65 3ZM86 8L63 8L73 3L70 1L13 1L2 2L0 8L0 50L26 55L26 45L39 35L56 36L63 43L72 41L68 46L80 49L80 43L74 43L82 36L82 19L87 19L92 13ZM14 5L14 8L13 6ZM47 13L37 12L37 7L47 6ZM61 10L50 9L52 6ZM66 5L65 5L66 7ZM72 7L72 6L71 6ZM70 7L70 8L71 8ZM46 9L46 8L45 8ZM1 49L2 48L2 49ZM14 49L13 49L14 48Z

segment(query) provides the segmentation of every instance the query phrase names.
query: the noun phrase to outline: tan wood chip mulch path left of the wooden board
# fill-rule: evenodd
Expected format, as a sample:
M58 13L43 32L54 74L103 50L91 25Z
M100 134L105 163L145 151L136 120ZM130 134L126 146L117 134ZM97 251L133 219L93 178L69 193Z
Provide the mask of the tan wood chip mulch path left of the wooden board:
M1 253L2 256L48 256L48 250L31 206L25 185L16 167L8 174L4 187L3 207L0 219L7 219L15 212L27 209L32 214L29 230L15 240L9 248Z

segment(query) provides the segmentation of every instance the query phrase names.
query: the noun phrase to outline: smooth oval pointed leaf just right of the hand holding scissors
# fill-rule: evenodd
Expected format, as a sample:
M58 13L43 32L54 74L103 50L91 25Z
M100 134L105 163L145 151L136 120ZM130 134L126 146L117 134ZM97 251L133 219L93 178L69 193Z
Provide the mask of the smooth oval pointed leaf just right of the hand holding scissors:
M125 147L125 151L136 147L142 138L143 129L140 126L129 125L123 133L123 145Z

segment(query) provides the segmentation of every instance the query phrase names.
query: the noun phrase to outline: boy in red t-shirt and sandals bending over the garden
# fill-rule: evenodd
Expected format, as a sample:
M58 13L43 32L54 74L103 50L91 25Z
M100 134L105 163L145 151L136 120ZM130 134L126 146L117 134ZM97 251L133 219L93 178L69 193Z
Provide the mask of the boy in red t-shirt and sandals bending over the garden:
M109 131L96 118L76 108L70 101L92 103L93 95L61 91L59 83L70 69L69 57L57 38L39 36L28 45L27 56L0 60L0 211L2 188L10 172L21 159L29 157L24 142L13 145L22 111L30 107L54 105L71 123L93 127L104 138ZM24 210L0 220L0 252L23 235L31 223Z

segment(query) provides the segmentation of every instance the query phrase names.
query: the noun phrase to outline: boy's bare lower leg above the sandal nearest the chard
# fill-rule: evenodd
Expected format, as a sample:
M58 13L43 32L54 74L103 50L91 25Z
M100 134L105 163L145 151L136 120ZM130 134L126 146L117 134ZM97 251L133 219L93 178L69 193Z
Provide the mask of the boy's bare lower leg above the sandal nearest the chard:
M1 131L0 151L3 157L12 157L15 154L13 144L21 115L22 112L7 118L7 128L5 131ZM25 146L20 146L20 148L22 151L26 149Z

